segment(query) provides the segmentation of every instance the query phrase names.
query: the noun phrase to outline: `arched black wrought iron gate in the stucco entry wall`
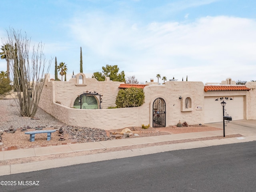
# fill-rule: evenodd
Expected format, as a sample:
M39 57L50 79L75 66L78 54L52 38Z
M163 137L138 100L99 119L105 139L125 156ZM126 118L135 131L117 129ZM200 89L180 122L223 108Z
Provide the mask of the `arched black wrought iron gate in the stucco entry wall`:
M165 123L165 101L162 98L157 98L153 103L153 127L165 127Z

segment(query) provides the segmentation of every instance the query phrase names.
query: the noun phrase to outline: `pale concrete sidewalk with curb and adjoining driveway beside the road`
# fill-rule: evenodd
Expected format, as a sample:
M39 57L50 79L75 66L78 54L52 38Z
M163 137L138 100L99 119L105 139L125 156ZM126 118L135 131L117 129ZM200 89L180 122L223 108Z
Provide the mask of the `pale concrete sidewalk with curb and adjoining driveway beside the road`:
M223 128L223 123L211 123L208 126ZM49 168L56 168L61 166L70 166L74 164L96 162L102 160L111 160L116 158L126 158L132 156L139 156L145 154L153 154L158 152L166 152L172 150L180 149L190 149L207 147L222 144L232 144L238 142L249 142L256 140L256 120L238 120L231 121L225 127L225 135L231 134L241 134L242 137L238 138L223 138L216 140L202 140L196 142L183 142L177 144L168 144L161 146L152 146L146 148L137 148L132 150L123 150L115 152L105 152L85 156L75 156L69 158L60 158L54 160L45 160L40 162L28 162L22 164L6 165L0 166L0 175L16 174L21 172L30 172L36 170L44 170ZM140 137L140 138L128 138L121 140L108 140L101 142L90 142L81 144L70 144L61 146L48 146L48 147L38 147L38 148L28 148L20 150L10 150L0 152L0 160L12 160L17 158L27 158L27 157L38 157L51 154L62 154L79 152L86 150L98 150L98 149L110 149L121 146L134 146L138 144L152 144L165 141L176 141L176 140L186 140L193 138L205 138L212 136L223 136L223 130L217 131L204 131L204 132L193 132L184 134L171 134L162 136L151 136L151 137Z

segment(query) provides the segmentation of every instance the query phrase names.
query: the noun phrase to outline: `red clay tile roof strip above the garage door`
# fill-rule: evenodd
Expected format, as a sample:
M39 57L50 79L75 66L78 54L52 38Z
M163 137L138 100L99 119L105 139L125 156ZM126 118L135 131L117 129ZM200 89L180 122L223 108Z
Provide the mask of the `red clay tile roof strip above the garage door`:
M206 85L204 86L204 91L249 91L244 85Z

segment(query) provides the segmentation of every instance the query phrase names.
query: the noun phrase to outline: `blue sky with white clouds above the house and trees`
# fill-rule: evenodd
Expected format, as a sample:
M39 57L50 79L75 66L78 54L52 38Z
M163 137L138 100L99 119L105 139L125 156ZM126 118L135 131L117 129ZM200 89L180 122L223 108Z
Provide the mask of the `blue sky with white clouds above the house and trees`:
M2 0L0 37L14 28L69 79L118 65L140 83L156 74L189 81L256 80L255 0ZM2 45L2 41L0 45ZM6 71L6 61L0 60ZM54 78L54 60L50 68ZM61 78L59 76L59 78ZM162 83L163 81L160 80Z

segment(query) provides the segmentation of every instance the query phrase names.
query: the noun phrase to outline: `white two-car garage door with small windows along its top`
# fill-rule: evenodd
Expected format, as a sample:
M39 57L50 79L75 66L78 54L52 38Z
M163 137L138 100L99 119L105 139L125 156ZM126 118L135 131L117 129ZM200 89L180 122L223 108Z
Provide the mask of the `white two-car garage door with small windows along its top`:
M222 122L222 101L226 102L226 112L232 120L244 119L244 96L223 96L204 98L204 123Z

